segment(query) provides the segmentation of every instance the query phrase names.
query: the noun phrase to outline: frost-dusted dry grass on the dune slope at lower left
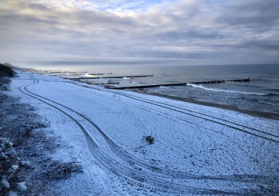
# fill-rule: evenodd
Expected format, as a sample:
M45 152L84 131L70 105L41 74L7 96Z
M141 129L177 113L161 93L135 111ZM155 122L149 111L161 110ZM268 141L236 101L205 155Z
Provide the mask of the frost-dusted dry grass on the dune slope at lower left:
M0 176L8 176L9 190L16 191L16 183L25 181L27 190L20 195L47 195L50 179L43 173L46 166L36 161L45 158L57 145L56 137L45 134L45 127L46 123L42 123L33 107L0 91L0 137L13 142L15 151L8 157L8 161L0 160ZM10 148L4 150L10 151ZM31 165L20 165L20 161L26 160ZM16 172L10 172L11 165L20 167ZM7 194L7 189L0 190L0 195Z

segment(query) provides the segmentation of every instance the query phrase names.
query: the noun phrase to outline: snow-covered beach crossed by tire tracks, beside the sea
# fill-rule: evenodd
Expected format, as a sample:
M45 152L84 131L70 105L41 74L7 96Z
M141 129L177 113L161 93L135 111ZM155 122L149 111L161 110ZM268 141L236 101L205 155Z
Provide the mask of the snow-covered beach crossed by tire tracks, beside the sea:
M36 107L84 172L59 195L278 195L279 121L18 70L11 96ZM154 137L148 144L144 137Z

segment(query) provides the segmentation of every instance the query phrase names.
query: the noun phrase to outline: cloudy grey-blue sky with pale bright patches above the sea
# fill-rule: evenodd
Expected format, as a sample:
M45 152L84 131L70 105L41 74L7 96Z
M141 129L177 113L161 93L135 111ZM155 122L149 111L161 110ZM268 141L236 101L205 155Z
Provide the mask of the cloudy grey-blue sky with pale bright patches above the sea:
M278 0L1 0L0 62L279 63Z

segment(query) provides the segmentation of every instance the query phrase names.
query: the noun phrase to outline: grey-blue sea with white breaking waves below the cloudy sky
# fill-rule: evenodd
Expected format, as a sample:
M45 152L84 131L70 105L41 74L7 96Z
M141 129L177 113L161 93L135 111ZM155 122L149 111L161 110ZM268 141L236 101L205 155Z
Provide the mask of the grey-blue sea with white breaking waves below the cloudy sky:
M37 67L42 69L42 67ZM218 65L218 66L52 66L43 68L45 72L53 70L87 73L82 77L122 76L121 78L84 79L91 84L119 83L112 86L142 86L146 84L187 83L183 86L158 86L145 88L152 93L188 98L206 103L231 105L243 110L273 112L279 114L279 64L255 65ZM50 71L52 70L52 71ZM59 75L59 74L57 74ZM135 75L153 75L133 77ZM65 77L65 76L63 76ZM81 76L66 76L81 77ZM212 80L247 79L250 82L224 82L213 84L192 84Z

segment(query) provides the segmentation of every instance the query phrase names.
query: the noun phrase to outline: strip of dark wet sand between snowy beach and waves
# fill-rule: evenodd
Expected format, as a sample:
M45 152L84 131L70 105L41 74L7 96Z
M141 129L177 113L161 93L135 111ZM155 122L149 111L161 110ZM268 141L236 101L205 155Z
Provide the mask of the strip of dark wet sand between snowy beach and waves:
M135 93L142 93L141 91L137 91L137 90L128 90L128 91L133 91ZM180 101L183 101L183 102L186 102L186 103L195 103L197 105L217 107L217 108L220 108L220 109L223 109L223 110L231 110L231 111L234 111L234 112L241 112L243 114L248 114L250 116L256 116L256 117L261 117L261 118L264 118L264 119L279 120L279 114L276 114L276 113L273 113L273 112L245 110L245 109L241 109L239 107L235 107L235 106L232 106L232 105L222 105L222 104L218 104L218 103L208 103L208 102L204 102L204 101L193 100L193 99L190 99L190 98L181 98L181 97L177 97L177 96L169 96L169 95L165 95L165 94L161 94L161 93L147 92L147 93L142 93L142 94L149 94L151 96L169 98L171 100L180 100Z

